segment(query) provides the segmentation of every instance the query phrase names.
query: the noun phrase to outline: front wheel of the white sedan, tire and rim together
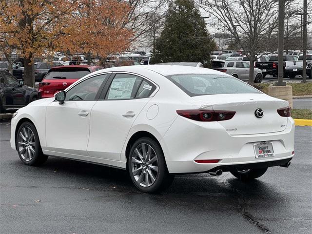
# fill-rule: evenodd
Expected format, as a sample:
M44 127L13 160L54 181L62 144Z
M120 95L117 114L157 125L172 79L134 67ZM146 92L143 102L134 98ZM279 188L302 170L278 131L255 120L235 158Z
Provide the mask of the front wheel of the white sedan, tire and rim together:
M15 138L16 149L24 164L38 166L48 159L42 153L37 130L31 122L23 122Z

